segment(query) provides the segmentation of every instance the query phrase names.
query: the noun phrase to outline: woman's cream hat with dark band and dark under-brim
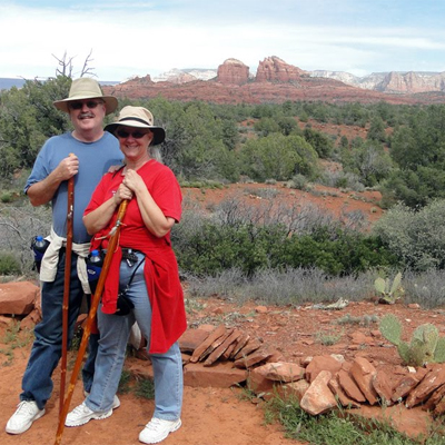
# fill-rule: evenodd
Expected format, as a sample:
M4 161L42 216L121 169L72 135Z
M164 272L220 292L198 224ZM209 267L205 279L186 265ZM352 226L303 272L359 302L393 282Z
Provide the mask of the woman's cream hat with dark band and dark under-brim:
M105 130L115 134L119 126L148 128L155 135L151 141L152 146L161 144L166 139L166 130L162 127L157 127L154 125L151 111L144 107L123 107L120 110L116 122L109 123L107 127L105 127Z

